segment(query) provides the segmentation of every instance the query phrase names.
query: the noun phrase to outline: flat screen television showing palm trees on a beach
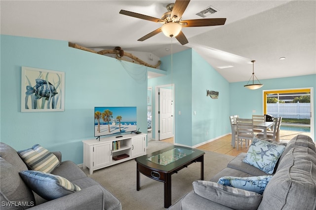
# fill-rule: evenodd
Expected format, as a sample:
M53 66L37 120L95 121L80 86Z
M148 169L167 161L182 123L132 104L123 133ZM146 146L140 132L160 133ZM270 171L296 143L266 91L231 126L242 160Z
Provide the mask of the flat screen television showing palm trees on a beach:
M118 135L137 130L136 106L94 107L94 136Z

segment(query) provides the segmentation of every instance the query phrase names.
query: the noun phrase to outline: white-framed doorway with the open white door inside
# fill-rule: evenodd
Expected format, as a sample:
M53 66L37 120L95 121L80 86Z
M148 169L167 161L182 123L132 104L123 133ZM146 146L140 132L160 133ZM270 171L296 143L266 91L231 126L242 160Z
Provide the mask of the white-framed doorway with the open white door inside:
M155 139L174 142L174 84L156 86L155 93Z

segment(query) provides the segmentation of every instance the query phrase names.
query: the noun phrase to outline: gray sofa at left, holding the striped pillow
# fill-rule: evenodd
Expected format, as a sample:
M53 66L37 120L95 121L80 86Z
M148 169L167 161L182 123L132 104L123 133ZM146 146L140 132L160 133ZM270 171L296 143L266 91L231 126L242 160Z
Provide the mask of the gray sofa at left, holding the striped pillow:
M28 171L17 151L0 142L0 209L1 210L121 210L120 201L102 185L87 177L72 161L61 161L61 153L53 152L59 166L50 174L59 175L75 185L80 191L45 200L33 192L23 181L19 172Z

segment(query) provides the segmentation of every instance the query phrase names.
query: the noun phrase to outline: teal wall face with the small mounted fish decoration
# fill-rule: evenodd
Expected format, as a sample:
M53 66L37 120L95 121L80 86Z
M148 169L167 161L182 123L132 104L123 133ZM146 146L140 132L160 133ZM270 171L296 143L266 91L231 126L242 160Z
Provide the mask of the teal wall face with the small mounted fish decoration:
M229 82L196 51L192 54L192 145L197 145L231 131L230 92ZM206 96L206 90L219 92L218 99Z

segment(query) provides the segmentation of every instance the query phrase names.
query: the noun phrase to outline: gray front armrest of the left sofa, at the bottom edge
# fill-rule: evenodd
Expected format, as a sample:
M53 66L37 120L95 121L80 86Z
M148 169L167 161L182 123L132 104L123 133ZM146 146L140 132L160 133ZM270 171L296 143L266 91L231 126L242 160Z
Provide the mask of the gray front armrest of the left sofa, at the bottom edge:
M43 209L103 210L104 193L101 186L95 185L30 208L30 210Z

